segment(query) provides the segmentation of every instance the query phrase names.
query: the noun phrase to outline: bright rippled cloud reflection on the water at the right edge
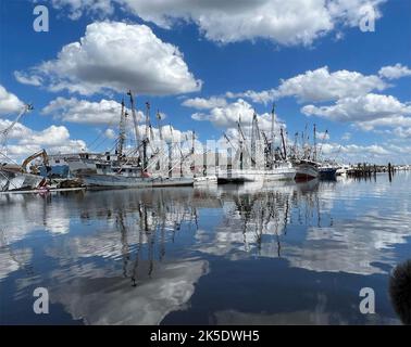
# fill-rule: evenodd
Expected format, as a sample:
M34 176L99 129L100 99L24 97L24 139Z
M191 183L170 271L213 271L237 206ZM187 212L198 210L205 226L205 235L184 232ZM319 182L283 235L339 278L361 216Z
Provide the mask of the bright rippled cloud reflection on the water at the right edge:
M387 273L387 267L381 265L396 265L393 247L407 243L410 227L409 218L401 214L339 220L333 228L310 228L301 245L286 246L285 256L291 266L313 271Z

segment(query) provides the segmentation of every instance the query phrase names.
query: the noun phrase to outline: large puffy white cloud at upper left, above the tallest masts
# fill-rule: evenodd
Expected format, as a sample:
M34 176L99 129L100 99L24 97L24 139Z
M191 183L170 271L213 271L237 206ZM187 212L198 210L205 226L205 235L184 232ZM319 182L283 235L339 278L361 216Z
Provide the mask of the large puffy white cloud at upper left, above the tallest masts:
M51 91L85 95L129 88L139 94L177 94L198 91L202 85L177 47L160 40L146 25L119 22L89 24L84 37L64 46L55 60L15 74L42 81Z

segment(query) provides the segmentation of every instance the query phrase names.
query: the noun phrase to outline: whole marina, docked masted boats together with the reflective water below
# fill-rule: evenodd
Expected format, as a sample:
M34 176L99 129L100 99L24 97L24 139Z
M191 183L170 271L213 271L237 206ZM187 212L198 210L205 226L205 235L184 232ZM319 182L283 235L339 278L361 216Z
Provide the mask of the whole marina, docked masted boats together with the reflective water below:
M315 125L286 141L274 106L270 136L239 116L208 149L155 138L148 103L145 136L127 129L121 105L114 152L2 164L1 324L401 323L389 274L410 254L409 166L338 164ZM357 308L364 286L376 314Z

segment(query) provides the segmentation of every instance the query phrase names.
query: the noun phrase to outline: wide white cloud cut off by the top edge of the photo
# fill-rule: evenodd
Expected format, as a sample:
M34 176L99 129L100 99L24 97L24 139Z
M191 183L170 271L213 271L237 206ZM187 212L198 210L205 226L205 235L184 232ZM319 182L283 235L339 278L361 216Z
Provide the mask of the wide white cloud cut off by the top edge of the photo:
M384 0L51 0L68 9L72 18L83 13L110 16L113 4L163 28L195 23L202 35L219 43L269 39L281 44L311 44L338 28L358 26L364 7L381 17ZM339 33L339 30L337 31Z

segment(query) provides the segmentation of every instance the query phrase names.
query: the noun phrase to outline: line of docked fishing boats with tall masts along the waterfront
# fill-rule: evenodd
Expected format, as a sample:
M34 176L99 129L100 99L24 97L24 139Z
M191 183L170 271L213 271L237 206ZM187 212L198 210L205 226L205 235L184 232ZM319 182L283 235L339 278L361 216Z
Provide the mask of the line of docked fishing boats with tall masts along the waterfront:
M128 93L130 106L134 107L134 97ZM191 139L178 142L164 141L164 127L159 124L158 137L154 136L150 104L146 103L146 118L144 136L138 126L134 127L135 147L125 151L127 133L127 112L122 101L119 136L115 140L115 152L110 153L72 153L49 156L41 150L27 158L22 165L11 160L0 167L1 192L33 192L46 193L55 189L64 189L59 184L71 182L75 187L89 189L126 189L126 188L164 188L192 187L244 182L274 182L283 180L309 181L312 179L335 180L337 175L371 176L376 172L388 171L389 175L398 170L408 170L409 166L376 166L370 164L346 165L332 162L322 155L323 143L316 142L316 127L313 125L313 143L308 142L302 133L301 143L296 140L292 145L286 144L284 127L279 129L276 142L275 105L271 113L270 137L259 128L259 117L253 114L251 129L244 130L239 115L237 121L237 137L229 138L224 133L223 150L214 153L201 143L196 143L196 133ZM26 105L15 121L1 136L7 134L22 116L33 110ZM132 108L134 118L135 108ZM137 121L137 120L136 120ZM136 124L136 123L135 123ZM172 127L170 126L170 129ZM327 131L325 132L327 133ZM323 139L324 140L324 139ZM196 146L197 144L197 146ZM198 144L201 150L198 151ZM215 145L215 143L214 143ZM219 145L219 144L217 144ZM221 143L220 143L221 145ZM3 159L9 159L7 146L0 152ZM52 185L51 178L58 178L59 184ZM66 180L66 181L65 181Z

